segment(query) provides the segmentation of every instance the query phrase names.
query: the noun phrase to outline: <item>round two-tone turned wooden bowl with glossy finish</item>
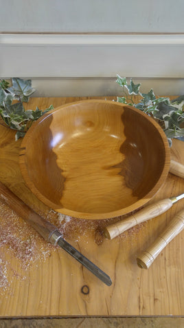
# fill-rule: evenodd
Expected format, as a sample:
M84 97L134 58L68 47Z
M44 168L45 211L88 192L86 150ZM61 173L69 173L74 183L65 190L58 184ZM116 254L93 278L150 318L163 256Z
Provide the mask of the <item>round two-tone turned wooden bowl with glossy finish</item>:
M32 192L76 218L122 216L148 203L170 168L158 123L115 101L62 105L25 135L20 167Z

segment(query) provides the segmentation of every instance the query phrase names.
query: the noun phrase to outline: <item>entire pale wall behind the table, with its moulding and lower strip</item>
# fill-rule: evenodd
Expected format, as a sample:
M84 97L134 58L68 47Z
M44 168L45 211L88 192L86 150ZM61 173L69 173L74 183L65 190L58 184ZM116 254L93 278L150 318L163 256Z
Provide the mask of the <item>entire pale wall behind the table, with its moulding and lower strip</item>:
M142 81L143 92L184 94L183 0L0 0L0 8L0 76L32 79L35 95L118 94L116 74Z

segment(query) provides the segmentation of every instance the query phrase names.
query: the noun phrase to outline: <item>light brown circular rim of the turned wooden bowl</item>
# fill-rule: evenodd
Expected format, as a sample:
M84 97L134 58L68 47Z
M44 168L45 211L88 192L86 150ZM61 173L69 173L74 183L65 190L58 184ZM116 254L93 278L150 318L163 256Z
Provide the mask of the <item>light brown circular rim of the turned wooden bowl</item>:
M28 172L27 172L27 165L26 165L26 149L27 145L32 142L32 136L34 135L34 130L38 127L38 125L47 119L48 116L52 115L54 112L58 112L58 110L65 109L66 107L69 107L71 105L76 105L78 103L110 103L110 104L116 104L121 107L128 107L130 110L133 110L140 115L144 116L154 127L156 127L157 132L161 136L161 140L163 141L163 147L165 150L165 163L163 165L163 170L160 174L159 180L154 185L154 187L143 196L143 198L137 200L135 203L129 205L128 207L124 207L123 209L117 209L112 212L106 212L106 213L88 213L88 212L76 212L71 209L67 209L65 207L58 208L58 205L56 203L53 203L50 201L47 197L43 196L41 192L36 188L34 183L32 182ZM109 101L109 100L103 100L103 99L87 99L87 100L81 100L81 101L73 101L70 103L66 103L64 105L60 105L53 110L45 113L43 116L41 116L37 121L34 121L30 129L26 132L25 136L23 137L23 141L21 143L21 148L19 152L19 167L21 170L21 174L23 176L23 179L25 183L27 184L27 187L31 190L31 192L45 205L49 206L51 209L54 209L54 211L62 213L67 216L72 216L74 218L84 218L84 219L91 219L91 220L101 220L101 219L107 219L107 218L115 218L117 216L123 216L125 214L129 214L130 212L133 212L143 205L146 205L148 201L150 201L157 192L159 192L159 189L161 189L163 183L165 182L168 172L170 170L170 146L168 143L168 139L165 136L165 133L163 132L163 129L160 127L159 123L157 123L154 119L152 119L148 114L145 114L144 112L141 112L141 110L138 110L137 108L126 105L124 103L118 103L115 101Z

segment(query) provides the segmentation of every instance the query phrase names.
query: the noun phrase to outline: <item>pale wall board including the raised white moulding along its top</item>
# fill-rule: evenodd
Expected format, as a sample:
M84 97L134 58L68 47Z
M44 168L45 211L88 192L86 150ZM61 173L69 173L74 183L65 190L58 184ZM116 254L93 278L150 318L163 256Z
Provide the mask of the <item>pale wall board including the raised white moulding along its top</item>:
M184 34L0 34L0 76L183 79Z

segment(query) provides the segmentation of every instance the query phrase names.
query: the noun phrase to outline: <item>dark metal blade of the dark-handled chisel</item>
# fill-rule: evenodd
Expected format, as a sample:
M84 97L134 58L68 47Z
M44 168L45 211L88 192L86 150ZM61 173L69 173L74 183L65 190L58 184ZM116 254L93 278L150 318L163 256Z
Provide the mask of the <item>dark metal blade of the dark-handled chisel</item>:
M112 285L111 278L105 274L104 271L102 271L99 267L97 267L94 263L92 263L88 258L86 258L84 255L82 255L76 248L71 246L65 239L60 237L58 239L57 245L59 245L62 249L65 249L67 253L69 253L73 258L76 258L78 262L80 262L84 267L89 269L89 271L92 272L97 278L103 281L108 286Z

